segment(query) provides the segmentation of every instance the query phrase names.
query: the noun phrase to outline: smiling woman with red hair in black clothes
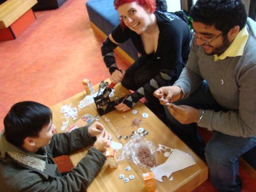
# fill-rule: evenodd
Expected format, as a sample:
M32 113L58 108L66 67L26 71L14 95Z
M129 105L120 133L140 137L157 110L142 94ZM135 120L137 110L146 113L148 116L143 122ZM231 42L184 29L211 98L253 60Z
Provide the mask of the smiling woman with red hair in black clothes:
M116 106L119 111L133 108L146 97L146 105L164 120L163 106L153 96L156 89L172 85L184 68L189 54L191 33L178 16L156 11L155 0L115 0L121 23L101 47L110 81L135 92ZM113 49L131 39L139 58L126 71L118 69Z

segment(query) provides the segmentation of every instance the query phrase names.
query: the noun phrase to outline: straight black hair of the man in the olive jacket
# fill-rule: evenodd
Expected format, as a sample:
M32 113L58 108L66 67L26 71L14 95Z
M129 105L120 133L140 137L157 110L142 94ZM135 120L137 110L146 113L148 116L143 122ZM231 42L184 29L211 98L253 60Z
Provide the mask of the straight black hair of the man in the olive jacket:
M6 140L20 147L26 137L38 137L51 120L52 111L47 106L33 101L15 103L3 119Z

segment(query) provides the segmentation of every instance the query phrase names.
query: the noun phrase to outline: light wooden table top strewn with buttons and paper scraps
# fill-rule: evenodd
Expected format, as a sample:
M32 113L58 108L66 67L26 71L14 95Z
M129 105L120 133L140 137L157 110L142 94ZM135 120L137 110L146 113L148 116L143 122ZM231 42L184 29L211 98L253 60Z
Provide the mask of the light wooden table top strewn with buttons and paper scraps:
M96 90L97 87L97 85L94 86ZM60 112L61 106L69 105L70 103L72 103L72 107L77 107L79 105L79 101L81 101L85 97L84 93L85 92L83 91L51 107L53 112L53 123L57 127L57 132L61 132L60 127L62 126L62 122L64 121L64 119L61 118L63 116L63 114L61 114ZM129 92L121 85L115 86L115 96L123 97L127 93ZM127 126L131 125L132 120L135 118L143 119L141 127L149 132L149 135L146 136L146 139L152 141L155 144L155 147L158 147L158 144L162 144L170 148L180 149L181 151L187 152L192 155L193 159L196 162L196 165L192 165L188 168L172 173L172 181L168 181L166 177L162 178L163 182L159 182L156 180L156 191L191 191L207 180L207 165L204 163L204 161L197 157L197 155L190 148L188 148L187 145L185 145L183 141L179 139L179 137L177 137L142 103L137 103L133 110L137 110L137 114L133 114L131 112L132 110L127 112L120 112L114 110L112 112L109 112L109 114L100 116L101 119L99 120L99 122L104 124L106 130L112 134L112 140L117 141L118 143L122 143L124 146L129 141L129 139L118 139L118 132L122 130L122 135L130 135L132 131L137 131L138 128L127 128ZM142 118L143 112L146 112L148 114L148 118ZM85 114L96 115L96 105L92 103L89 106L82 108L77 116L78 119L80 119ZM106 121L105 118L108 118L109 121ZM75 122L69 119L69 126L72 126L73 123ZM124 129L125 127L126 129ZM81 158L85 156L87 150L88 148L82 149L79 152L76 152L73 155L69 156L73 165L77 165ZM122 149L120 149L118 153L120 153L121 150ZM166 160L167 157L164 157L163 153L156 152L157 165L162 164ZM131 170L129 172L125 170L126 166L131 167ZM147 172L149 172L148 169L138 168L138 166L134 165L130 161L119 162L118 168L116 169L110 168L108 161L106 161L100 172L97 174L96 178L94 178L94 180L88 187L87 191L144 191L144 181L142 178L142 174ZM135 179L125 183L123 182L123 180L119 179L120 174L125 174L125 177L129 177L130 174L134 174Z

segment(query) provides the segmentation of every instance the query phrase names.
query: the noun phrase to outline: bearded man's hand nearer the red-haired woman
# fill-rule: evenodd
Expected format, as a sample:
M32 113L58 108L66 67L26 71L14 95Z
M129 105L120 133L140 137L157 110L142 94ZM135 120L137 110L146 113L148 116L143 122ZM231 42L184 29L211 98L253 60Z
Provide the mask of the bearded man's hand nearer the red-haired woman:
M179 100L183 97L183 92L179 86L160 87L154 92L154 96L159 99L162 105Z

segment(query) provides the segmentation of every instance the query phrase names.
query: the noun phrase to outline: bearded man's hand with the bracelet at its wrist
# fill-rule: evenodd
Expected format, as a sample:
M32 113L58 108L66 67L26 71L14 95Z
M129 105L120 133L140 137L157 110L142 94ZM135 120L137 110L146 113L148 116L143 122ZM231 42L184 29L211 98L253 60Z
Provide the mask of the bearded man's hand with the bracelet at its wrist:
M171 115L182 124L197 123L199 110L187 105L176 106L172 103L168 105Z

